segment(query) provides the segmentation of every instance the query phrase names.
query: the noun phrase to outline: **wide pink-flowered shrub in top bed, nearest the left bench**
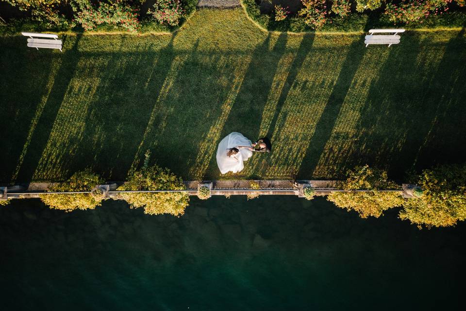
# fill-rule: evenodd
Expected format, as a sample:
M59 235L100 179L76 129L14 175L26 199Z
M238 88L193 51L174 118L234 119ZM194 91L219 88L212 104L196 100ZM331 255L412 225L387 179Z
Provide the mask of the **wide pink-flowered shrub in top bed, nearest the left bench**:
M135 10L124 4L122 0L111 4L102 2L98 9L90 4L83 5L77 14L76 21L87 31L101 24L121 26L131 32L135 32L138 27Z

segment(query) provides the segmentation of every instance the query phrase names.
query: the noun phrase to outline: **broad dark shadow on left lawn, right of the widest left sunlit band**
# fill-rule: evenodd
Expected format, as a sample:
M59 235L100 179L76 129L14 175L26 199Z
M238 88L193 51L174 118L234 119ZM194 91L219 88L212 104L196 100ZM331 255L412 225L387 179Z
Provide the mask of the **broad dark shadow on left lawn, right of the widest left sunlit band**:
M157 98L175 58L173 40L159 51L139 51L132 56L115 52L105 66L94 94L82 139L70 167L88 166L107 178L124 179L145 140L150 122L157 124ZM123 143L124 142L124 143ZM145 149L144 149L145 150Z

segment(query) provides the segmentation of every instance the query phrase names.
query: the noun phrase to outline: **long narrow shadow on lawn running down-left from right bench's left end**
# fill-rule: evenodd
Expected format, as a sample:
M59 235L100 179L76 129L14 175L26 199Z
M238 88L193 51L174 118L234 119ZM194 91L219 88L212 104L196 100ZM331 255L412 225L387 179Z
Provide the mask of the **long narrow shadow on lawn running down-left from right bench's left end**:
M324 151L325 145L332 135L332 130L340 113L343 101L350 89L351 81L365 52L366 46L364 45L364 36L351 43L329 100L320 115L319 121L316 123L314 135L311 138L306 155L303 158L298 172L299 176L310 178L316 169L320 155Z

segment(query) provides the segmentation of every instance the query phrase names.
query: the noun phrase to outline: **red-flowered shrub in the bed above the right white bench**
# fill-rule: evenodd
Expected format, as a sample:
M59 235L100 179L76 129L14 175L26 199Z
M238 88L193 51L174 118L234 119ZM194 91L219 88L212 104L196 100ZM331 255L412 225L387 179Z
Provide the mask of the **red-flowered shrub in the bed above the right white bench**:
M399 4L387 3L385 15L394 23L420 22L421 18L430 14L442 14L448 11L448 4L452 0L414 0Z

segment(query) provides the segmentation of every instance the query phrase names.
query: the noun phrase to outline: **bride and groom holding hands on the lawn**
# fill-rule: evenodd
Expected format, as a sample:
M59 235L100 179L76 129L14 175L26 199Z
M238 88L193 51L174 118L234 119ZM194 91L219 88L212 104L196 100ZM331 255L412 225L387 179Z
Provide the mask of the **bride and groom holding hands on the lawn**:
M238 173L244 168L243 162L248 160L253 152L270 152L272 145L268 138L260 138L252 143L241 133L233 132L223 138L217 148L217 165L220 173Z

